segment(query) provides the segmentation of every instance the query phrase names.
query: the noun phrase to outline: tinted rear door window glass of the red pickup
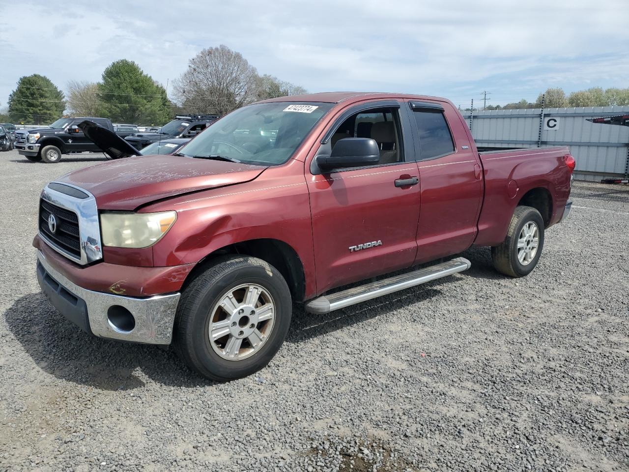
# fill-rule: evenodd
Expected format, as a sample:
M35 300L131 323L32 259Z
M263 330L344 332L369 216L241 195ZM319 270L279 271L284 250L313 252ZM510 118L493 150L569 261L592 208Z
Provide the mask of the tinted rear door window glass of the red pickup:
M454 152L454 140L443 111L413 110L420 138L421 155L417 160L434 159Z

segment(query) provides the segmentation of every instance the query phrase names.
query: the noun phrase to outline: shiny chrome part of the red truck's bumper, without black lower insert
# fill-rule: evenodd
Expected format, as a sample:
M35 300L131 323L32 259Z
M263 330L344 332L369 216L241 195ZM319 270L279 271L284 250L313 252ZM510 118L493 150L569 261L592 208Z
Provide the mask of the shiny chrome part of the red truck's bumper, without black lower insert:
M48 277L53 279L52 284L56 282L65 291L84 301L87 307L89 330L91 330L92 334L98 337L130 342L170 344L175 311L177 310L181 294L172 293L169 295L154 295L148 298L133 298L92 291L79 287L58 273L50 266L46 257L39 250L37 251L37 259L47 272ZM40 285L42 285L42 289L45 292L49 291L49 288L43 286L43 283L47 282L49 282L48 279L40 280ZM54 300L51 301L54 302ZM112 307L115 308L112 310ZM115 319L111 318L112 314L116 313L116 311L120 312L119 307L125 308L133 315L135 325L130 330L119 329L111 321Z

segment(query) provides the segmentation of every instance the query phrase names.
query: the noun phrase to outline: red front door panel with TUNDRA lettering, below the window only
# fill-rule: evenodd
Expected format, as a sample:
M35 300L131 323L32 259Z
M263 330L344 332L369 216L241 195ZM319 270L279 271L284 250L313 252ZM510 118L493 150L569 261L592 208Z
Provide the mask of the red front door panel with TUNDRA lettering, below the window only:
M319 293L413 264L420 184L395 185L413 176L403 162L309 177Z

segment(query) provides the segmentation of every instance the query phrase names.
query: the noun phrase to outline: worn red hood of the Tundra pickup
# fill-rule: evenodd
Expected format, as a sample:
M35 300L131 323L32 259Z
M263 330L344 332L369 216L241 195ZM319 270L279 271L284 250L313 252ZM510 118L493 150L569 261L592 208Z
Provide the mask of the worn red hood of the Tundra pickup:
M175 155L143 155L70 172L57 180L86 189L99 210L133 211L152 201L252 181L267 167Z

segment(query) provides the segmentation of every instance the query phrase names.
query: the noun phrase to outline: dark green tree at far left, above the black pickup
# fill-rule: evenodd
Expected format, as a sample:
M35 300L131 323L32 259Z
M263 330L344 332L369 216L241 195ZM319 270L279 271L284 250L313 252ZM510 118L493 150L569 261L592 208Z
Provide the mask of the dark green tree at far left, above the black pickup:
M9 95L9 118L15 123L42 125L60 118L65 110L64 94L48 77L20 77Z

